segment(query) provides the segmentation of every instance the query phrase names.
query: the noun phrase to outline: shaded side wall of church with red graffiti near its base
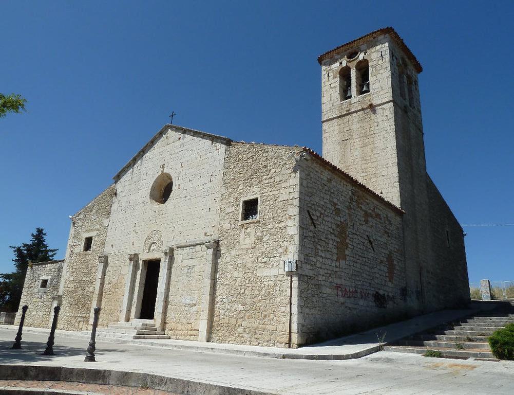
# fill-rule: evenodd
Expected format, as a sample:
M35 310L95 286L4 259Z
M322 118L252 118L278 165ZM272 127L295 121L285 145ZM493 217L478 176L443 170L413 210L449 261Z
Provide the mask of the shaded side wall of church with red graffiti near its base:
M312 157L300 166L299 343L402 317L402 215Z

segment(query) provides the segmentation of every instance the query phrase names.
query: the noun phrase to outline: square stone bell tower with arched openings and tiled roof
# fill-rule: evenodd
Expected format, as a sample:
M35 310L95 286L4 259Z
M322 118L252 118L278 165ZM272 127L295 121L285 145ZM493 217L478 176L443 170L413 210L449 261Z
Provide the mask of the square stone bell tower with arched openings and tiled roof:
M418 74L391 28L334 48L321 65L323 157L405 211L407 287L424 303L431 261L427 173Z

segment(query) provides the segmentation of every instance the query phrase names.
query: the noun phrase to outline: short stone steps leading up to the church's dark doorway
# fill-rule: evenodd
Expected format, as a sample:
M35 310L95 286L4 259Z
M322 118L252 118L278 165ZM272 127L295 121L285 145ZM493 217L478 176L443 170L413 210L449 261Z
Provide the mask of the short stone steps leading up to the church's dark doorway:
M131 322L117 322L107 328L97 329L97 338L112 339L169 339L163 331L158 331L154 320L134 319Z

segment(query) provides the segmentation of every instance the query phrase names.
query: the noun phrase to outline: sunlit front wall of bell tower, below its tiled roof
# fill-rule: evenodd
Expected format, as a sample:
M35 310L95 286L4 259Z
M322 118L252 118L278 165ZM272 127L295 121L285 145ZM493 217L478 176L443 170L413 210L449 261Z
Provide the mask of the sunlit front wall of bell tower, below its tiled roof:
M323 157L400 206L390 43L382 36L321 66ZM348 52L354 50L348 50ZM357 95L356 65L369 62L370 93ZM341 101L339 71L351 67L352 98Z

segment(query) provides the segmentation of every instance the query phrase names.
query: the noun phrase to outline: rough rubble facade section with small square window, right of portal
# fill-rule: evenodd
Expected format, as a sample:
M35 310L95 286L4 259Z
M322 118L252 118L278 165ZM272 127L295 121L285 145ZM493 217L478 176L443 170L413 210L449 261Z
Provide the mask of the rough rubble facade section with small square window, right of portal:
M286 157L294 150L238 143L228 149L213 342L288 346L290 278L283 261L297 259L299 191L295 161ZM253 197L259 197L259 218L242 221L241 202Z

